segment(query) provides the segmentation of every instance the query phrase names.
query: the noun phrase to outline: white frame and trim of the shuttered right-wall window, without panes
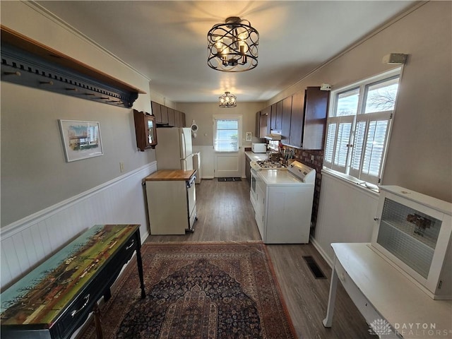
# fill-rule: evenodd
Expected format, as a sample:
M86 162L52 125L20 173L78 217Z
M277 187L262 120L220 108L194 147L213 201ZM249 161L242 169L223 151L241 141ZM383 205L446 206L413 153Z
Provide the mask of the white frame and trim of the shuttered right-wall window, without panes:
M402 80L402 74L403 74L403 65L402 66L398 66L395 69L391 69L390 71L386 71L383 73L380 73L376 76L371 76L369 78L363 79L362 81L357 81L356 83L352 83L350 85L345 85L341 88L338 88L337 90L332 90L331 94L330 94L330 102L332 105L330 105L330 109L328 111L328 118L327 118L327 128L326 128L326 137L325 137L325 145L324 145L324 156L323 156L323 169L327 169L328 172L332 173L332 174L338 174L339 177L345 177L345 178L352 178L352 182L356 182L357 184L364 184L364 186L366 186L367 188L372 188L374 189L374 187L376 187L376 184L381 184L382 179L383 179L383 172L384 172L384 168L386 165L386 157L388 154L388 145L389 145L389 141L391 138L391 130L392 130L392 118L393 118L393 114L396 112L396 107L397 107L397 96L396 96L396 102L394 102L394 106L393 106L393 110L391 111L386 111L386 112L370 112L370 113L365 113L365 106L366 106L366 97L368 95L368 90L370 85L374 85L375 83L379 83L379 82L384 82L384 81L389 81L391 80L391 78L398 78L398 84L400 86L401 80ZM359 88L359 98L358 98L358 103L357 103L357 114L352 114L352 115L339 115L337 116L337 111L338 111L338 95L340 95L341 93L346 93L347 91L350 90L355 90ZM334 115L333 115L334 114ZM347 151L347 162L345 167L338 167L335 164L335 156L336 156L336 147L337 147L337 140L338 140L338 128L339 128L339 124L341 120L349 120L352 119L352 131L350 133L350 140L349 140L349 144L353 145L355 143L355 134L357 132L357 121L367 121L367 126L369 124L369 122L371 121L378 121L379 116L384 115L384 114L390 114L388 117L388 126L386 128L386 137L383 143L383 155L381 156L381 160L380 160L380 169L379 169L379 175L377 177L374 176L367 176L367 174L363 173L363 169L362 169L362 163L364 162L364 153L362 153L361 155L361 159L360 159L360 167L359 167L359 171L356 172L355 169L352 169L352 157L355 154L355 150L348 150ZM365 116L369 117L369 118L364 118ZM347 118L345 118L347 117ZM332 162L327 161L327 155L330 155L330 151L329 148L327 148L328 146L331 146L331 140L328 143L328 130L331 124L337 124L336 126L336 131L335 131L335 140L333 141L333 150L332 150ZM364 141L363 143L366 142L367 140L367 128L366 127L366 133L364 135ZM364 146L365 149L365 146ZM328 151L329 150L329 151ZM327 154L328 152L328 154ZM358 177L355 177L355 174L358 173ZM376 179L376 180L375 180ZM370 180L369 182L367 182L367 180ZM375 182L377 182L376 184L374 184Z

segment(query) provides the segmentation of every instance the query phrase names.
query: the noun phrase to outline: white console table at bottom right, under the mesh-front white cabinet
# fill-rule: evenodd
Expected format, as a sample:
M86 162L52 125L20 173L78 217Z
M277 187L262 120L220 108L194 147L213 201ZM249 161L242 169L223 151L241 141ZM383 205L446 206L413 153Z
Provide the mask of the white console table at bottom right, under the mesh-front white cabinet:
M367 323L391 326L391 332L376 332L380 338L452 338L452 300L429 297L370 244L331 246L335 260L323 326L332 325L339 278Z

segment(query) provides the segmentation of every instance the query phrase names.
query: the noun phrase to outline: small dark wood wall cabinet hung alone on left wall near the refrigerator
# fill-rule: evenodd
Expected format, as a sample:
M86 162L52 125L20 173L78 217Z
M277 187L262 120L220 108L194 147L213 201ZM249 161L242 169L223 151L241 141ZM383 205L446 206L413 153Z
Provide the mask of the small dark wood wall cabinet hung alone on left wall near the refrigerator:
M136 147L141 150L155 148L157 145L157 124L155 117L145 112L133 109L133 121L135 121Z

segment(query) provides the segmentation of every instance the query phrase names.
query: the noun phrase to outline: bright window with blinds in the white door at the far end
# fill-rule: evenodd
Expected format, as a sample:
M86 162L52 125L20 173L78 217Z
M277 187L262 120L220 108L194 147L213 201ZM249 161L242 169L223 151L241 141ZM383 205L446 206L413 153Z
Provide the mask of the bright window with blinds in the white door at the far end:
M214 119L213 148L216 152L238 152L239 119Z

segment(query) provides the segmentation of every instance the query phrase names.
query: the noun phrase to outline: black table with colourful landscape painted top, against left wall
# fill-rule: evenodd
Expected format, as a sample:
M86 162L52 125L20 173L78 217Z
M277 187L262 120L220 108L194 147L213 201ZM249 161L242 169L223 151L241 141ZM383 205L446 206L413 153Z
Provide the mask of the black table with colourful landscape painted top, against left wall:
M67 339L94 311L97 301L136 251L141 297L145 297L140 225L95 225L1 293L4 338Z

